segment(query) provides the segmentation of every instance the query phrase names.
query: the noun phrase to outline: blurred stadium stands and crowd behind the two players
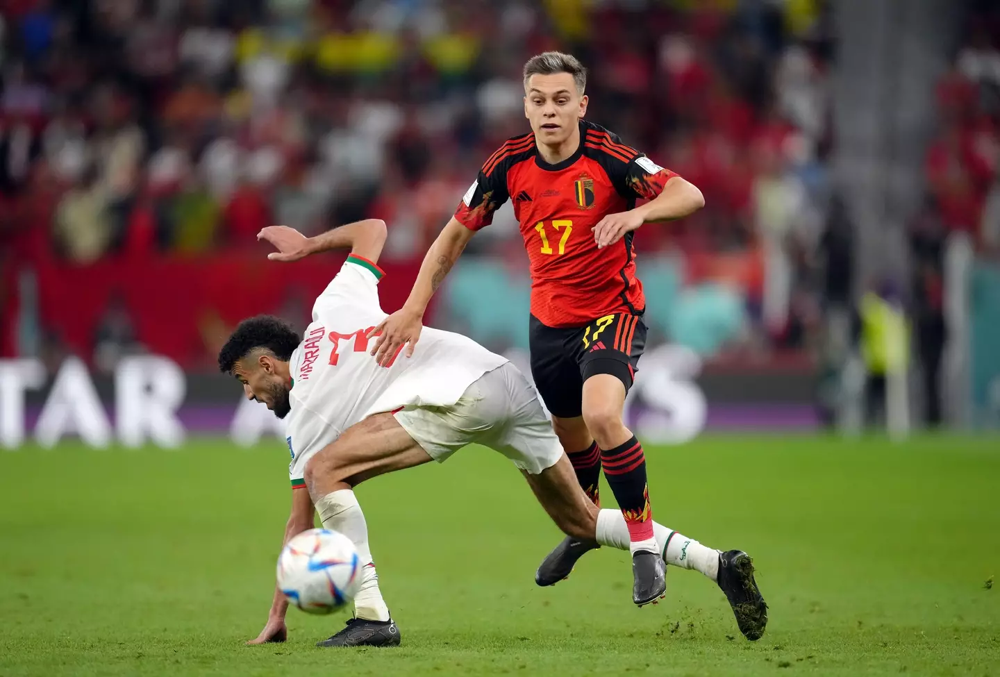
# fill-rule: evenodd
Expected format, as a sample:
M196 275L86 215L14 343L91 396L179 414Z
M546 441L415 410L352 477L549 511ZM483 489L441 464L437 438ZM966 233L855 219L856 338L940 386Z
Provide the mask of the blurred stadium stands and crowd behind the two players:
M854 11L6 2L0 354L49 382L77 356L105 400L123 356L166 356L192 375L197 428L222 404L202 375L227 330L257 312L302 326L337 265L268 263L254 234L385 219L398 307L482 158L525 128L521 64L561 48L590 66L590 118L706 196L636 244L652 342L704 365L683 377L703 374L710 427L857 427L868 291L907 316L912 423L995 425L996 13ZM883 40L889 25L912 40ZM428 319L524 350L528 284L508 205ZM28 391L29 430L46 393Z

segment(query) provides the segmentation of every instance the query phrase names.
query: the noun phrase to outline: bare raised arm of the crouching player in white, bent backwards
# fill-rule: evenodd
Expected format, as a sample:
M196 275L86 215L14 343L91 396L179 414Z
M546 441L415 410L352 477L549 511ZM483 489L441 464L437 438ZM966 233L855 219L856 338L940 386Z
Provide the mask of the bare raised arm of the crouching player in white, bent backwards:
M267 255L271 261L298 261L310 254L349 247L352 254L375 263L385 238L385 221L381 219L348 223L315 237L306 237L288 226L268 226L257 233L258 240L270 242L278 250Z

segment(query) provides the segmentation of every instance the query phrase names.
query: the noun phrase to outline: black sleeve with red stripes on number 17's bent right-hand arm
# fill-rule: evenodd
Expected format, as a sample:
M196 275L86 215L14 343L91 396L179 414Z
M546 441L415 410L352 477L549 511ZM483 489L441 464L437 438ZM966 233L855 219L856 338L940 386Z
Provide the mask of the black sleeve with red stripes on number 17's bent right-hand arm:
M584 150L600 162L618 193L628 199L652 200L677 176L597 125L586 128Z

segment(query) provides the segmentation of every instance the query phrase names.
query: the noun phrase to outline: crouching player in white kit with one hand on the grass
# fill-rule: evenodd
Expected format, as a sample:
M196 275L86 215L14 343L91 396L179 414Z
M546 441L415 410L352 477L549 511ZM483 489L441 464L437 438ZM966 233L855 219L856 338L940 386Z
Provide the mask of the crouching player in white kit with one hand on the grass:
M364 514L353 487L384 473L431 460L445 461L471 443L510 458L564 533L629 549L618 510L598 510L576 480L535 390L506 358L472 339L426 327L416 348L387 366L369 354L374 330L387 315L379 305L376 261L385 223L370 219L314 238L283 226L258 235L277 249L271 260L350 247L340 272L316 299L312 323L300 337L274 317L245 320L219 354L250 399L287 418L292 461L292 511L285 542L323 526L349 537L365 563L355 616L320 646L392 646L400 634L378 588ZM668 563L715 579L719 552L655 525ZM683 540L681 559L666 557ZM284 641L287 602L275 591L271 613L250 643Z

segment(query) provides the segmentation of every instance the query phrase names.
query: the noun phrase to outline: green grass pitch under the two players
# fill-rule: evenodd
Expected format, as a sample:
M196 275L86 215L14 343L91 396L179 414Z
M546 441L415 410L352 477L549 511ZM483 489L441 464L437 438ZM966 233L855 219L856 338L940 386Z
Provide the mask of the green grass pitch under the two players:
M358 490L402 647L316 649L346 614L295 609L288 643L247 647L287 518L284 445L66 444L0 452L0 676L1000 675L1000 440L711 436L647 455L658 521L754 556L761 641L693 571L636 609L617 551L535 587L559 534L470 448Z

